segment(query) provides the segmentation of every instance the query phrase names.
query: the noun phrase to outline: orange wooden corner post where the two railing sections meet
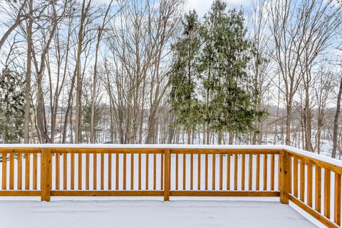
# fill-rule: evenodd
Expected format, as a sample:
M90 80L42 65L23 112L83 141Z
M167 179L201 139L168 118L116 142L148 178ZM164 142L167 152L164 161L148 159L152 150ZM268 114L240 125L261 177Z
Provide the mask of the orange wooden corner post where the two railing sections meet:
M289 181L289 152L281 150L279 153L279 192L282 204L289 204Z

